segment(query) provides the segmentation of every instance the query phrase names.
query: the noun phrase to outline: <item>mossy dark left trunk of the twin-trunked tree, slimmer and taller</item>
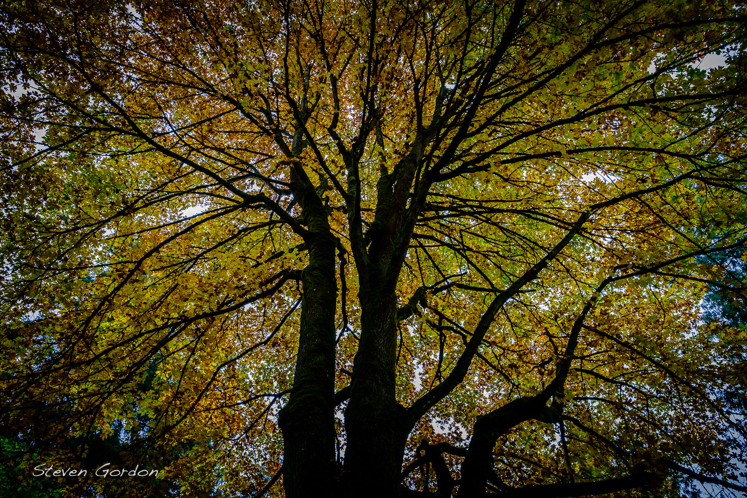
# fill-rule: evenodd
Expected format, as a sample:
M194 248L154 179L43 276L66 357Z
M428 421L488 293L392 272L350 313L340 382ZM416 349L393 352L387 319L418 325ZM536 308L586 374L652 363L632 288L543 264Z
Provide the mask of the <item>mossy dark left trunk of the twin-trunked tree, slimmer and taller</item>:
M288 498L331 496L335 460L336 240L318 197L304 212L309 264L302 273L298 358L291 397L279 414Z

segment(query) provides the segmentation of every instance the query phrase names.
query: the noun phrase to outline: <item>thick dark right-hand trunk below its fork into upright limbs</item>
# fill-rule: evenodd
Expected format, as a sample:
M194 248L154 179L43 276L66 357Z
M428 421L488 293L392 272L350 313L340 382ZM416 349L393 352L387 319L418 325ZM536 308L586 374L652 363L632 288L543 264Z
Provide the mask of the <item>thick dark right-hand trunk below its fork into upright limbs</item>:
M345 469L351 497L396 497L407 440L405 408L395 396L397 296L362 290L361 341L345 412Z

